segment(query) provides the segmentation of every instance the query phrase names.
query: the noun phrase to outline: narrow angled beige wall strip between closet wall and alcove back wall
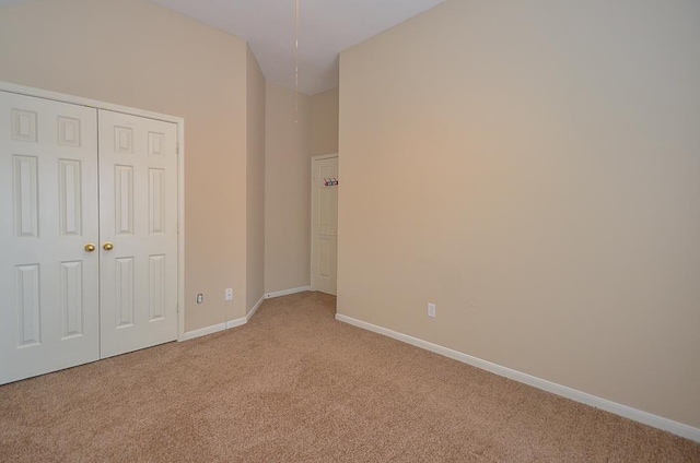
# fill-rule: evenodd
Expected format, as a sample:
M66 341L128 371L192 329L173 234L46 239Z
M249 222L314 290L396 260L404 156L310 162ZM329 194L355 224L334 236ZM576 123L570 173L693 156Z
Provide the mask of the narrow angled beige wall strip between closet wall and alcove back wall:
M246 311L265 294L265 76L247 47Z

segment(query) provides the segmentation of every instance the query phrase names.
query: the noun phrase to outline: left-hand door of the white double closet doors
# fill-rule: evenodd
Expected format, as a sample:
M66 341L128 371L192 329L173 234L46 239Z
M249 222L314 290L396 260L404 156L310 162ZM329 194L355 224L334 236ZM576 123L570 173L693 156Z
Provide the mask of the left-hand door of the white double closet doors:
M96 110L0 91L0 383L100 357L97 213Z

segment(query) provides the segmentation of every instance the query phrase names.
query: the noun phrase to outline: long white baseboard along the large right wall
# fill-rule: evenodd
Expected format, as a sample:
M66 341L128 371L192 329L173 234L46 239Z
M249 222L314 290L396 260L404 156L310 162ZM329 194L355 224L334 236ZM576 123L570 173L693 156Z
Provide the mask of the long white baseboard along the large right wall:
M502 367L500 365L492 364L487 360L482 360L471 355L463 354L460 352L453 351L451 348L443 347L438 344L429 343L428 341L419 340L418 337L409 336L408 334L387 330L386 328L377 327L375 324L357 320L340 313L336 313L336 320L352 324L358 328L362 328L368 331L383 334L385 336L393 337L398 341L402 341L416 347L420 347L425 351L430 351L435 354L450 357L454 360L462 361L467 365L471 365L482 370L490 371L494 375L499 375L515 381L520 381L525 384L532 385L534 388L541 389L544 391L551 392L553 394L561 395L567 399L571 399L572 401L581 402L583 404L591 405L593 407L600 408L619 416L623 416L625 418L629 418L634 422L639 422L644 425L672 432L676 436L680 436L686 439L700 442L700 429L693 428L692 426L684 425L682 423L674 422L672 419L653 415L651 413L643 412L641 409L632 408L630 406L622 405L617 402L608 401L607 399L602 399L602 397L588 394L586 392L581 392L575 389L568 388L565 385L557 384L557 383L544 380L541 378L523 373L521 371L513 370L508 367Z

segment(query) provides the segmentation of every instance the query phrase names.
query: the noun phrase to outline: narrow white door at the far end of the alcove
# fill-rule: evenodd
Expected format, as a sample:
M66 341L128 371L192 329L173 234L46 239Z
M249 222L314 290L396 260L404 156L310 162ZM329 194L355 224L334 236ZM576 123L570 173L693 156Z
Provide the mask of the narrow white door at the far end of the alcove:
M338 269L338 156L312 161L311 287L336 295Z

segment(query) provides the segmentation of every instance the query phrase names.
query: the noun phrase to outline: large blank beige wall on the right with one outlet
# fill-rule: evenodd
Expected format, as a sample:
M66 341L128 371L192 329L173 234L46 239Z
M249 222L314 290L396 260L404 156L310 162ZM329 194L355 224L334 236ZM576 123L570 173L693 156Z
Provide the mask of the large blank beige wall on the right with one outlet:
M341 54L338 311L699 427L698 17L453 0Z

